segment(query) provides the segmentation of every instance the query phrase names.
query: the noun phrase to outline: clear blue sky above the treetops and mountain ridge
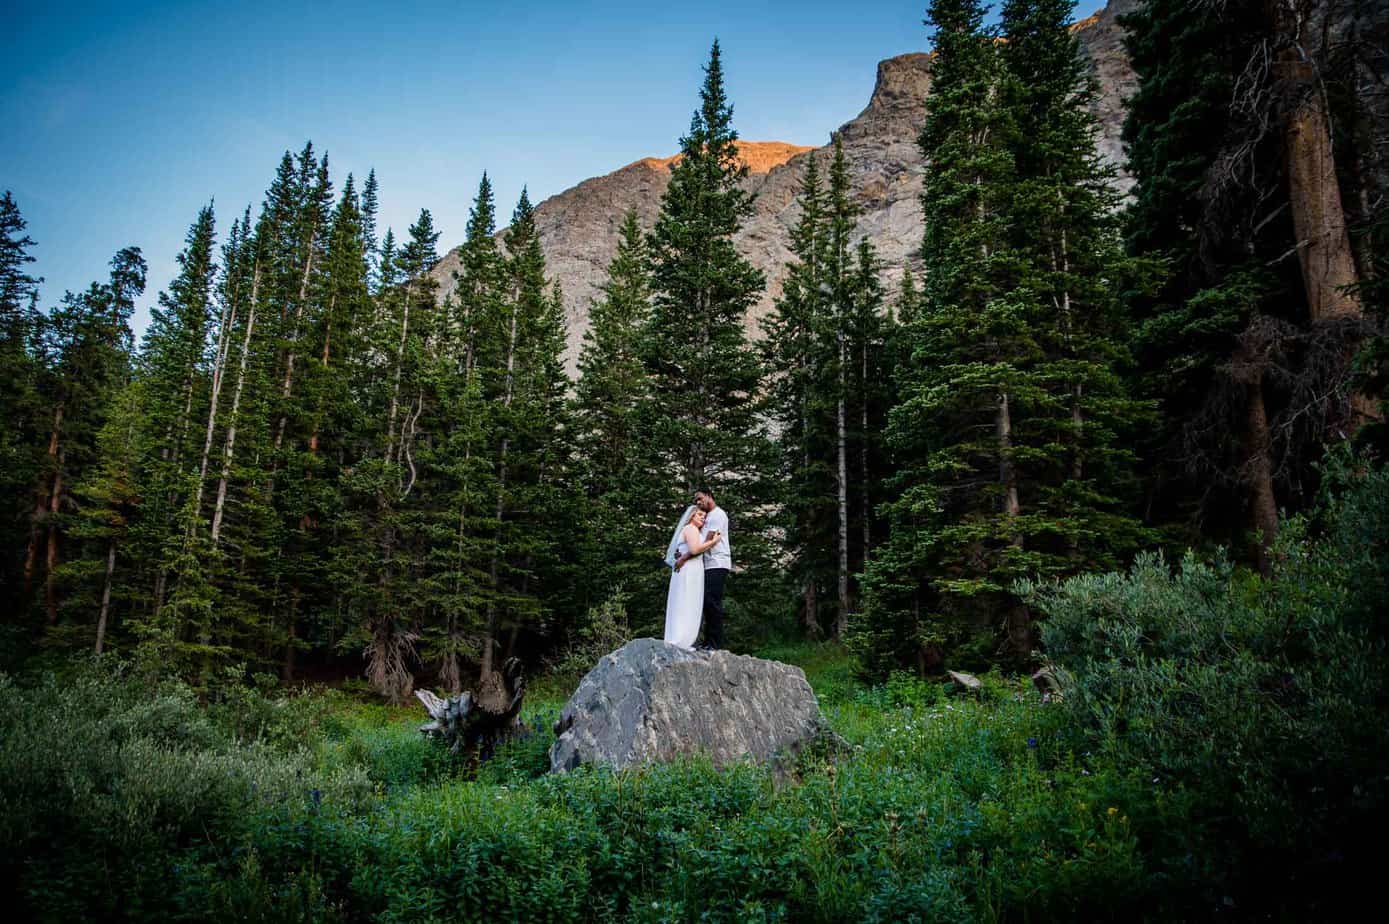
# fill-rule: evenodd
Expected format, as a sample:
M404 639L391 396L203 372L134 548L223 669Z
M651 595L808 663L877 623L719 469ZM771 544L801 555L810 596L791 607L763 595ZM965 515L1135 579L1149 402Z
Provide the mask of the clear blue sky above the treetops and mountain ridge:
M38 242L43 304L135 245L150 264L138 327L197 210L215 200L225 231L304 140L339 188L375 167L382 228L426 207L449 247L483 170L504 217L522 185L540 201L674 153L715 36L739 133L800 145L858 114L879 60L926 46L922 0L6 8L0 189Z

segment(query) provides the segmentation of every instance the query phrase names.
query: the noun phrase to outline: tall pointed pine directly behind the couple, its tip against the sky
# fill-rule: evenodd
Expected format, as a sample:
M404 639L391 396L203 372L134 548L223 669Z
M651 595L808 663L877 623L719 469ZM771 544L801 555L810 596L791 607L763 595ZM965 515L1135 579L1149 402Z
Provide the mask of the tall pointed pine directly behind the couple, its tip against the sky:
M760 429L761 363L745 321L765 281L733 246L753 196L740 186L747 167L732 117L715 42L649 238L653 302L642 352L653 403L644 457L665 489L644 509L668 520L694 488L710 486L733 511L740 567L757 574L770 563L760 510L772 450ZM754 591L751 574L740 593ZM656 610L656 602L646 604Z

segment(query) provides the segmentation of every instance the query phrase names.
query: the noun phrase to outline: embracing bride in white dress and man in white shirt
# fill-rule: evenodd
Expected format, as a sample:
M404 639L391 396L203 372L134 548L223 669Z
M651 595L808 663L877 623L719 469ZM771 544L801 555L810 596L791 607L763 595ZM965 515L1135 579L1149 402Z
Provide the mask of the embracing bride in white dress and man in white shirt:
M696 650L724 647L724 581L733 567L728 550L728 514L707 488L694 492L671 545L665 549L671 589L665 596L665 641L694 647L700 622L704 643Z

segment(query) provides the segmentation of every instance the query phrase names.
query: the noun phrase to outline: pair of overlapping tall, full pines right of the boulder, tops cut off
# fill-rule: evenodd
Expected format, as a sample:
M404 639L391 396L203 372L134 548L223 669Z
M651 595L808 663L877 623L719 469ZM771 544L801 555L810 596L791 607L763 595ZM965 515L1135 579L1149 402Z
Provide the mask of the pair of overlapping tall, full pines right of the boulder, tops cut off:
M1108 172L1093 153L1070 4L1015 0L1006 42L971 0L932 6L936 63L922 150L931 164L926 286L889 436L903 470L890 536L871 563L858 643L882 666L1024 661L1021 577L1113 567L1140 531L1125 514L1122 439L1140 420L1117 292L1126 268Z

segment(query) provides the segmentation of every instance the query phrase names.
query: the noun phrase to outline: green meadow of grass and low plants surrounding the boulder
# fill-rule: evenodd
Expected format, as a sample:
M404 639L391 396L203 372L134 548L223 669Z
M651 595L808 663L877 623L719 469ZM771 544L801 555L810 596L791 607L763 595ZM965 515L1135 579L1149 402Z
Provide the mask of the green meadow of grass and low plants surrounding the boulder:
M1165 793L1090 767L1028 686L865 686L800 664L847 757L546 774L536 731L464 766L418 707L340 692L200 706L100 673L3 688L4 874L35 918L999 920L1142 907ZM74 720L74 717L76 717ZM35 832L44 832L35 836ZM61 845L61 848L58 846Z

